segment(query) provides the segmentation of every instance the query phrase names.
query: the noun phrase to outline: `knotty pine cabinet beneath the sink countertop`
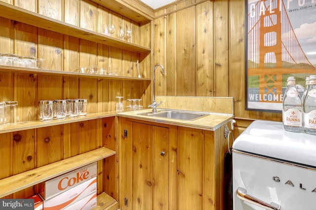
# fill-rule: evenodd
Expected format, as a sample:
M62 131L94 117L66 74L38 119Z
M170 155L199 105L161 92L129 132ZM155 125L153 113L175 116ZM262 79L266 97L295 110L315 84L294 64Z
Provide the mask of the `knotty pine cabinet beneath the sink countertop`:
M120 209L223 210L224 127L118 117Z

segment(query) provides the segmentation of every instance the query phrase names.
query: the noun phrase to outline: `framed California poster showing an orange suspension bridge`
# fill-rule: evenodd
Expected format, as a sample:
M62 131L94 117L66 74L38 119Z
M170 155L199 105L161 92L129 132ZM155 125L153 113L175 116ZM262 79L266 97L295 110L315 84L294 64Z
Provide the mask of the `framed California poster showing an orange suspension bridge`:
M281 112L286 80L316 75L316 0L246 1L246 110Z

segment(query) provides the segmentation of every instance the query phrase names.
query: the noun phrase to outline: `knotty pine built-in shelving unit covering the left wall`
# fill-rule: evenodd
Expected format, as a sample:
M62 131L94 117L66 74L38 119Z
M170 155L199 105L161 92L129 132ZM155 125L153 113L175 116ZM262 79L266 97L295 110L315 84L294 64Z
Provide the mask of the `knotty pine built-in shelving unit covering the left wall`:
M0 128L0 197L28 197L38 193L38 183L97 161L96 209L117 209L116 96L142 98L147 91L150 71L137 78L135 69L137 60L141 69L151 65L151 22L140 26L89 0L12 4L0 1L0 53L43 58L46 66L0 65L0 101L18 101L20 120ZM130 42L98 32L110 19L132 26ZM119 75L77 71L78 66L104 67L100 61L117 65ZM38 120L39 100L62 98L87 98L88 115Z

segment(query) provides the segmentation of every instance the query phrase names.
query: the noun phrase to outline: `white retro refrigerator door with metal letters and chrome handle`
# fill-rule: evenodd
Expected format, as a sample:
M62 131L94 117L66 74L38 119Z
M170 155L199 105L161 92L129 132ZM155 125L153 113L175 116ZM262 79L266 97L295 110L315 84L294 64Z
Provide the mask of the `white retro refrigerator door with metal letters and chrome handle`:
M316 210L316 169L233 151L234 210Z

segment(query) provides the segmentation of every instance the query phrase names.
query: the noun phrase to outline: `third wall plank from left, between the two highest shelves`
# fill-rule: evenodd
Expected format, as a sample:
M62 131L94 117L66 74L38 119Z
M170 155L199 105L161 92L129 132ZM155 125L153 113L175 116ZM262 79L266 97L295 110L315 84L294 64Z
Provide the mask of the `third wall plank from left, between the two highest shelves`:
M47 69L62 70L63 35L38 28L38 58L45 59Z

